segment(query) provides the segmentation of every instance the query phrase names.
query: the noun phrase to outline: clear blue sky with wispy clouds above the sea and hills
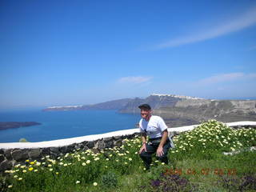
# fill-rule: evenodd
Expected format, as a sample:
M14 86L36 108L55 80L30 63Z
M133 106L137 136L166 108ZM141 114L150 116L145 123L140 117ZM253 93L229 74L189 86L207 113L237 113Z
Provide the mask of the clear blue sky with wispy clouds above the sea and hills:
M256 2L0 2L0 108L256 97Z

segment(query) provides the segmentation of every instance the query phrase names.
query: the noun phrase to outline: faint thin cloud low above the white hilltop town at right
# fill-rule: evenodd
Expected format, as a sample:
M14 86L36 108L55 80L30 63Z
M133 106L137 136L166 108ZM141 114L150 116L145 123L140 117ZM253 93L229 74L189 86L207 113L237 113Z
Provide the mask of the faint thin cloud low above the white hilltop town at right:
M234 81L239 78L244 78L245 74L243 73L230 73L230 74L217 74L214 76L211 76L209 78L204 78L197 82L199 85L208 85L218 82L228 82L228 81Z

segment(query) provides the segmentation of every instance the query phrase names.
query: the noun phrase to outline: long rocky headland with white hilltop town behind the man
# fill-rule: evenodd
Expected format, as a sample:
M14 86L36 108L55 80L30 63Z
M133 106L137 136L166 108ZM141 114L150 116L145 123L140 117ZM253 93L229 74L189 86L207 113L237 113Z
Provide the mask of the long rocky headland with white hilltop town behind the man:
M43 111L118 110L121 114L138 114L138 106L148 103L169 127L190 126L208 119L221 122L256 121L256 100L206 99L175 94L150 94L147 98L124 98L84 106L50 106Z

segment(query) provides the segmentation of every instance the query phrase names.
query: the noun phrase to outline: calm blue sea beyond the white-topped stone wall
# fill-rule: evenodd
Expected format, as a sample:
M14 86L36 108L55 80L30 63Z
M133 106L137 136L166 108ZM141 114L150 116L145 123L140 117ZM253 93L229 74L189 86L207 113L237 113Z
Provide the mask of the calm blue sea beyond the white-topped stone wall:
M20 138L42 142L134 129L139 119L139 114L118 114L116 110L0 111L0 122L42 123L39 126L0 130L0 142L18 142Z

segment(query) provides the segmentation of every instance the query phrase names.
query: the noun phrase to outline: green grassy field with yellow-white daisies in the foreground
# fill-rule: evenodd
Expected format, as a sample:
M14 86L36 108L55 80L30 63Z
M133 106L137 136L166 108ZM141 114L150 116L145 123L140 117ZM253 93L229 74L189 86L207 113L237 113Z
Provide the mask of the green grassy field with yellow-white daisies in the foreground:
M146 171L138 156L141 139L121 147L74 150L40 161L27 159L1 177L1 191L255 191L256 130L203 122L174 137L169 165L153 158ZM233 152L234 155L224 155Z

